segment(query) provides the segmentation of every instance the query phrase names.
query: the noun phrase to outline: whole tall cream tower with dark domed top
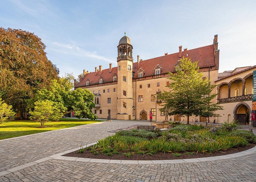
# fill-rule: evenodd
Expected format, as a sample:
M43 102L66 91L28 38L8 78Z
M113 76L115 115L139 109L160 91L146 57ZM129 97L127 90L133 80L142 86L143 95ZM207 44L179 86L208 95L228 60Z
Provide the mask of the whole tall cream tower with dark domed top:
M132 48L131 40L125 33L117 46L117 119L132 118Z

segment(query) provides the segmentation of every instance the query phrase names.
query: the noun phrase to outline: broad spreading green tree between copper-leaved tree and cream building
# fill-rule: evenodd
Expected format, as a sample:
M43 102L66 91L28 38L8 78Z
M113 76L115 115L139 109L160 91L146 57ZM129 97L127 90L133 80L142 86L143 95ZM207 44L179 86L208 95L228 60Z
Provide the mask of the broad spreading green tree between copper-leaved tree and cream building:
M38 90L34 98L27 100L31 111L34 110L34 103L37 101L50 100L54 106L59 109L61 116L74 112L78 118L97 119L91 109L95 106L93 103L94 95L87 89L73 89L71 74L57 80L51 81L50 88Z

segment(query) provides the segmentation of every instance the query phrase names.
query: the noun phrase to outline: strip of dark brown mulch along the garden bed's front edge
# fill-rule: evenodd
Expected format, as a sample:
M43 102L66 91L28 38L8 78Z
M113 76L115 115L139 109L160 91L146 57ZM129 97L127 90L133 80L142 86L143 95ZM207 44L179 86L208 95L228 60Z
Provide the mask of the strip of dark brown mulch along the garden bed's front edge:
M94 158L94 159L114 159L114 160L140 160L140 161L147 161L147 160L172 160L172 159L192 159L192 158L202 158L202 157L214 157L214 156L219 156L219 155L227 155L227 154L234 154L238 153L241 151L245 151L248 149L251 149L255 147L255 144L249 144L248 146L245 147L237 147L235 149L228 149L228 150L222 150L218 152L214 152L211 154L208 153L197 153L194 155L187 155L185 153L180 153L182 154L181 157L175 157L172 154L173 153L157 153L157 154L152 154L152 155L139 155L139 154L133 154L131 157L126 157L122 152L119 154L115 154L112 156L107 156L106 154L102 154L98 151L98 155L94 155L88 150L84 150L84 153L78 154L78 151L74 151L68 154L65 154L63 156L68 156L68 157L80 157L80 158Z

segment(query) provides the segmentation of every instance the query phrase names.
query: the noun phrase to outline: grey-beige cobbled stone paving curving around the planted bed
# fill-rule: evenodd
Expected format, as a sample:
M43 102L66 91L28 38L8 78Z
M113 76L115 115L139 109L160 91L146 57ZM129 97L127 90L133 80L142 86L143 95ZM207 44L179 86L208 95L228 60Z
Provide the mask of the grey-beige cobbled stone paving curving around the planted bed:
M144 122L148 124L148 122ZM1 170L104 138L141 124L113 121L0 141ZM256 181L256 152L243 157L176 164L113 164L49 159L0 176L0 181Z

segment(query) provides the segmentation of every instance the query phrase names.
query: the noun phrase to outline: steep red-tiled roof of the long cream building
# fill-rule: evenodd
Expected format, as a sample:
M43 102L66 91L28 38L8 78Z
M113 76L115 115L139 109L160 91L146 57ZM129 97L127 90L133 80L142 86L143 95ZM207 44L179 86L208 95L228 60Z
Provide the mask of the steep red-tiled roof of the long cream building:
M183 56L186 57L187 54L188 54L188 58L191 58L192 62L199 61L198 62L199 67L215 66L213 45L182 51L182 57ZM138 62L135 62L133 63L133 71L135 72L133 78L138 77L138 71L140 68L144 70L143 76L154 75L155 74L154 68L156 68L158 65L159 65L158 67L161 67L160 74L165 74L168 71L174 72L175 65L177 64L178 60L180 60L179 52L176 52L174 54L169 54L169 55L160 56L157 58L140 61L139 68L138 68ZM95 75L95 72L91 72L84 75L84 78L80 80L80 83L78 83L75 87L86 86L87 80L89 80L90 85L98 84L100 77L102 77L102 83L113 82L114 74L117 75L117 67L113 67L112 72L109 72L109 68L102 70L101 74L100 72L97 72L97 74Z

